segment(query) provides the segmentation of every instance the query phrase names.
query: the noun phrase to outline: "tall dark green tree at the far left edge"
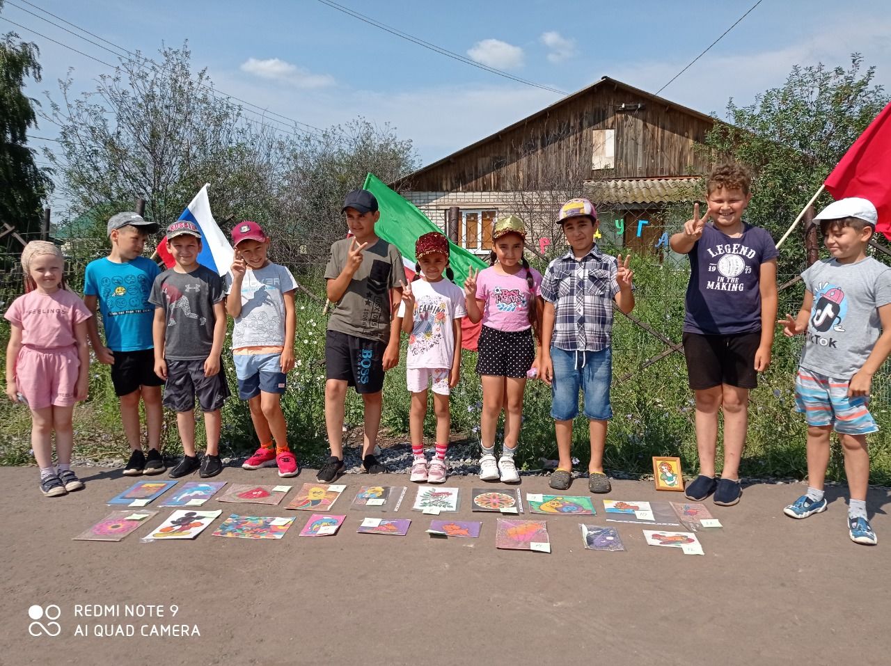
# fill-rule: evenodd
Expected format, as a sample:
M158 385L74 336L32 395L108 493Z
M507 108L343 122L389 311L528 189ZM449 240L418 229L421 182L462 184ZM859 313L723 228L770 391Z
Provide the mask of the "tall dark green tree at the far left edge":
M23 87L25 77L40 81L38 55L37 45L20 42L15 33L0 37L0 225L12 224L26 239L40 230L40 211L53 189L48 172L37 167L28 147L29 128L37 127L38 102Z

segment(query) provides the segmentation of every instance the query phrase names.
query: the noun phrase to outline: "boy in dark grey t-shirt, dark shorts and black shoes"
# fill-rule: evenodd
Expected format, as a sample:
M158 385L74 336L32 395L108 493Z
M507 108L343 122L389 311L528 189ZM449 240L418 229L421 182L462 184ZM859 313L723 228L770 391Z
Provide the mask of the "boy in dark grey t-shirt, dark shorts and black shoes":
M155 306L155 374L166 382L163 404L176 411L176 428L183 443L183 459L170 470L170 477L192 474L200 467L201 478L208 478L223 471L220 408L229 397L221 358L225 287L223 278L198 263L201 232L194 223L179 220L171 224L167 247L176 264L155 278L149 303ZM208 436L200 463L195 452L196 395Z

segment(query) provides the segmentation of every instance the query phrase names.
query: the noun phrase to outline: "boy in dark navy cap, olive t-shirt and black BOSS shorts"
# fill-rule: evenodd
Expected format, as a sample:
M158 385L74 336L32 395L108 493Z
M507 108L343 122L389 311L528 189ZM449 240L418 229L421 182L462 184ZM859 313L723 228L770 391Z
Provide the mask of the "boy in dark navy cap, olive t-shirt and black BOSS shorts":
M384 372L399 362L399 323L394 313L405 282L402 256L374 234L380 212L370 191L347 194L343 212L351 237L331 245L331 259L325 267L328 300L335 304L325 334L325 425L331 457L319 470L319 483L331 483L343 470L347 386L355 386L365 404L362 471L387 471L373 451L380 427Z

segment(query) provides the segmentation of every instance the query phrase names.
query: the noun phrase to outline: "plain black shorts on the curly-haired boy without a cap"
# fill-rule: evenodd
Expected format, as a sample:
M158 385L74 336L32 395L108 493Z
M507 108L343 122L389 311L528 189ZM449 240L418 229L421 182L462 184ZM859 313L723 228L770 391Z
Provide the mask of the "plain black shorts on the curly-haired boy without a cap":
M694 391L727 384L740 388L758 386L755 353L761 345L761 331L727 336L683 334L687 376Z

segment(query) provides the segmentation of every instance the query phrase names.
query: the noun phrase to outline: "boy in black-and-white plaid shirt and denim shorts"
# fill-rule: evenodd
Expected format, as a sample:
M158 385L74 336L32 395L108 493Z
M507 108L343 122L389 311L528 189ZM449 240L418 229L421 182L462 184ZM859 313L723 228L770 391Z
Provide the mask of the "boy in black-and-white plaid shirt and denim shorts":
M607 441L609 384L612 381L612 304L623 313L634 309L629 256L604 255L594 243L597 211L588 199L571 199L560 208L560 226L570 251L554 259L544 272L542 297L542 374L552 387L560 463L551 487L565 491L572 481L572 419L578 415L578 393L584 394L589 421L591 461L588 490L609 492L603 473Z

